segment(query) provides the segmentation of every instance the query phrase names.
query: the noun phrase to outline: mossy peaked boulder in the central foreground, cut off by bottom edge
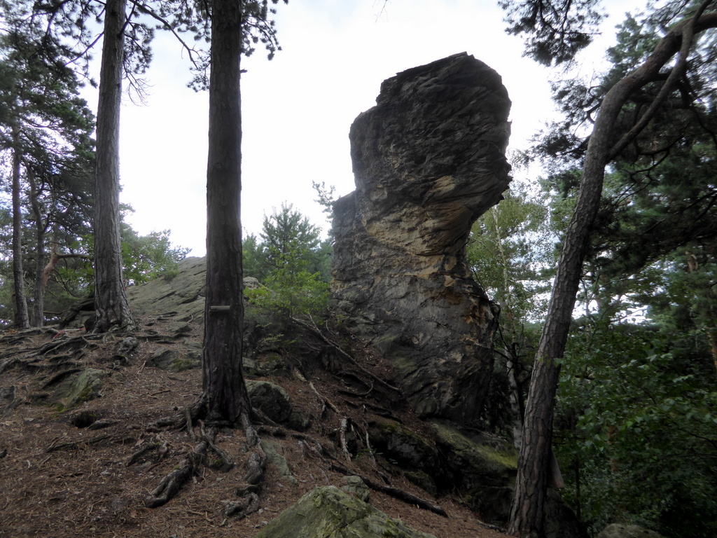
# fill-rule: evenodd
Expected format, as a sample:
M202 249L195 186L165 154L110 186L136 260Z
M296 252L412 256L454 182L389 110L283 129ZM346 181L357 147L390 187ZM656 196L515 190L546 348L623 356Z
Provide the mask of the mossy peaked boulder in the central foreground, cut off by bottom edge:
M435 538L411 529L333 486L316 488L283 511L255 538Z

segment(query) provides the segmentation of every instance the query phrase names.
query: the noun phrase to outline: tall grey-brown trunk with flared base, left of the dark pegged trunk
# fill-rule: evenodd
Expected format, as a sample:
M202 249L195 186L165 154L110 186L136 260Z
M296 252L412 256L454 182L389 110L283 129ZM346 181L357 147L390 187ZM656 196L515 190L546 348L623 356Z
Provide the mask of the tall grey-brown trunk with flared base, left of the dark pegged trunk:
M95 169L95 332L113 326L131 331L136 326L125 296L120 241L119 142L126 5L127 0L105 4Z

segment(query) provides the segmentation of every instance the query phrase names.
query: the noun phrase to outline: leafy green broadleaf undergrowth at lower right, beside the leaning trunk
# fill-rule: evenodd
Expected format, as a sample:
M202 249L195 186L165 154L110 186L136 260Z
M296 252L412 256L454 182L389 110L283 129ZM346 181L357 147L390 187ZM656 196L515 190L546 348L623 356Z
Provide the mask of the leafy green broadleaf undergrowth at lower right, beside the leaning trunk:
M616 520L672 537L717 530L715 372L704 341L680 339L589 322L571 338L556 440L571 502L596 532Z

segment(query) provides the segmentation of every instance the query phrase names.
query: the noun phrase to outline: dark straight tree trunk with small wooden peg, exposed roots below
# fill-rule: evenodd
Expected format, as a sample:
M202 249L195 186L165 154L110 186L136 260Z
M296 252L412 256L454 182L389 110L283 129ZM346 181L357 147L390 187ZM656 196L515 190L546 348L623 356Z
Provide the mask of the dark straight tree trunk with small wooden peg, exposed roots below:
M202 383L208 418L232 424L241 423L251 409L242 374L241 52L242 3L214 0Z

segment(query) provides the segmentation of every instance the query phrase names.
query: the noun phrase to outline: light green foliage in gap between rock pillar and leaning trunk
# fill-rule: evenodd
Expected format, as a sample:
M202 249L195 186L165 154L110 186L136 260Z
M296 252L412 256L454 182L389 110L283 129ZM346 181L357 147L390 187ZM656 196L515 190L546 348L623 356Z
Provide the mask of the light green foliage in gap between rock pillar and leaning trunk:
M473 225L466 247L475 280L500 306L495 369L485 410L488 427L508 435L518 423L554 265L556 232L546 193L517 185ZM508 401L512 399L512 409Z

